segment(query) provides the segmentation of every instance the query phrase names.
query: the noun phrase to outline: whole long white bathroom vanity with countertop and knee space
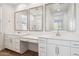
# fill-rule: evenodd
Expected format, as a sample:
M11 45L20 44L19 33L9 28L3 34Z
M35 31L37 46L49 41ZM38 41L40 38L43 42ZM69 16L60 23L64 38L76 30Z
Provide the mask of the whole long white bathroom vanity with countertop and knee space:
M5 34L5 48L22 54L28 50L30 42L38 45L39 56L79 56L78 35L71 32L63 32L61 36Z

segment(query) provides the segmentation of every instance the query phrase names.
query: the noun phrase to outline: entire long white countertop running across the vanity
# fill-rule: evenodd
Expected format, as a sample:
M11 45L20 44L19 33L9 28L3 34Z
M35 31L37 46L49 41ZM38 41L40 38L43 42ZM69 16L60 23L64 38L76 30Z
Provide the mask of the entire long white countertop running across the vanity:
M10 34L9 34L10 35ZM18 34L11 34L11 35L18 35ZM60 36L56 36L56 33L44 33L44 34L20 34L21 38L24 39L39 39L39 37L42 38L49 38L49 39L62 39L62 40L73 40L73 41L79 41L79 33L75 32L61 32Z

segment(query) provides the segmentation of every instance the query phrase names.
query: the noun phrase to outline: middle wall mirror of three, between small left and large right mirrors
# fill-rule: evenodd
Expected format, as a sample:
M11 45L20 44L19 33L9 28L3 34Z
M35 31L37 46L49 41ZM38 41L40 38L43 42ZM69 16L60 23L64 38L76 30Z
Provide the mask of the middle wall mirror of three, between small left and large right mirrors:
M30 31L42 31L43 30L43 7L34 7L29 10L30 12Z

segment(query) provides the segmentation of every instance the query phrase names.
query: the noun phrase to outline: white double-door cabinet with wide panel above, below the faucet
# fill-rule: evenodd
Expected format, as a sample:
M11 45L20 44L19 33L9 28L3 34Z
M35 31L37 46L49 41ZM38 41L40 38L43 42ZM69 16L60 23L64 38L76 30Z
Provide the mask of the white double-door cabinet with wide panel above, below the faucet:
M69 41L48 39L47 56L70 56Z

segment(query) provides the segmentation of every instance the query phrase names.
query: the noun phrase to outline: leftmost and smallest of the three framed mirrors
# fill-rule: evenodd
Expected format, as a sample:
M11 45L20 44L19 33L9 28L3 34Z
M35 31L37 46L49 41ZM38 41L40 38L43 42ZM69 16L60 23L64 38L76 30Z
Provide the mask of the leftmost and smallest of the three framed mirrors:
M26 31L28 28L28 10L15 12L14 28L17 31Z

